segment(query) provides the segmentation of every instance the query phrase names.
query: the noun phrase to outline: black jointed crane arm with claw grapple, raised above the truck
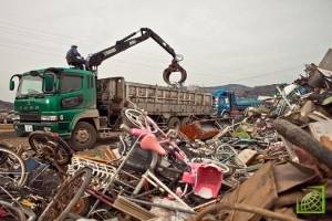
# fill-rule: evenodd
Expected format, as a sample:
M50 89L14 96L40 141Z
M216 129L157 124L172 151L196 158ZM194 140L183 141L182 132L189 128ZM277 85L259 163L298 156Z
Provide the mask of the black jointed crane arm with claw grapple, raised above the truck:
M136 36L139 34L138 36ZM96 70L101 63L111 56L114 56L141 42L144 42L145 40L152 38L156 43L158 43L165 51L167 51L172 56L173 61L172 64L164 71L164 81L167 84L170 84L169 82L169 75L172 72L180 72L181 78L178 82L179 84L184 83L187 78L186 71L178 64L179 61L183 60L181 55L178 55L175 53L174 49L167 44L158 34L156 34L153 30L148 28L142 28L137 32L134 32L126 38L116 41L115 45L104 49L100 52L96 52L92 55L90 55L86 59L86 70Z

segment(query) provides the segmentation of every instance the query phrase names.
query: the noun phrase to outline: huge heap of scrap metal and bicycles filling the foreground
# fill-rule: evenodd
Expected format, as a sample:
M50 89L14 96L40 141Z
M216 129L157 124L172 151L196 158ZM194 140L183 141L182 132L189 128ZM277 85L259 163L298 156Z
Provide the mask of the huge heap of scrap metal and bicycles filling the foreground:
M166 133L127 108L111 145L76 152L46 131L30 149L1 144L0 220L331 220L332 75L307 72L305 93L228 124Z

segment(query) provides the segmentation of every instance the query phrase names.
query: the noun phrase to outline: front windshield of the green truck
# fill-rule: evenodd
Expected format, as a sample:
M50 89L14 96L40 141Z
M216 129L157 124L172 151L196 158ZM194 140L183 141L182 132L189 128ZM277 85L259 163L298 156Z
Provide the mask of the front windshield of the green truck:
M18 88L17 97L43 94L43 78L41 76L23 75Z

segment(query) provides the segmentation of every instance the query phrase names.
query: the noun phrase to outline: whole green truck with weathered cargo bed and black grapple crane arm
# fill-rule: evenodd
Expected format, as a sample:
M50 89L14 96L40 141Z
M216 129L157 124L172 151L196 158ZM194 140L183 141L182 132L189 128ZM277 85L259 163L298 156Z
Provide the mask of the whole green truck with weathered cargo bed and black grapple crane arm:
M172 71L184 71L168 44L151 30L143 31L138 38L133 39L133 33L117 41L114 46L92 54L85 70L49 67L13 75L10 80L11 91L15 88L14 78L19 78L13 116L17 134L22 136L34 130L54 131L69 139L74 149L82 150L92 148L97 137L112 136L112 131L121 124L122 110L129 107L131 102L167 127L176 127L190 116L209 116L212 96L208 93L185 87L131 83L124 77L97 80L96 67L102 61L144 41L146 35L152 36L174 57L168 67L170 71L166 69L164 72L164 78ZM185 78L183 76L180 81Z

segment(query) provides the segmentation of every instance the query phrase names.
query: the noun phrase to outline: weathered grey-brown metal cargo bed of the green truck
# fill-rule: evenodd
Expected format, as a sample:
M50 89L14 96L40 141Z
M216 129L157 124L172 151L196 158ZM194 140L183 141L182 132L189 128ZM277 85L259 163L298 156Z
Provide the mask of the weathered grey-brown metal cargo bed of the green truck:
M97 84L97 103L112 114L120 114L124 107L131 107L126 101L135 103L149 115L162 115L165 118L209 116L212 108L212 95L209 93L125 82L124 77L102 78Z

